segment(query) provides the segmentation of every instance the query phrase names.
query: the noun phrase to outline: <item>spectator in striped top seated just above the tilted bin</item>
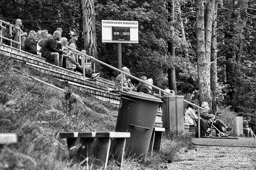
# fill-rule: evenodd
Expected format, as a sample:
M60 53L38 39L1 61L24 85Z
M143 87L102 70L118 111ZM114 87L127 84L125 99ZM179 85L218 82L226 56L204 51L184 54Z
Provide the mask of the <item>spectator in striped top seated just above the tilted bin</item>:
M122 71L124 71L127 74L130 74L130 70L127 67L123 67ZM128 81L131 81L130 79L126 78L126 75L123 74L123 78L122 78L122 84L123 84L123 89L125 89L126 91L132 91L131 86L128 84ZM121 90L121 74L118 74L116 76L116 80L115 80L115 86L114 86L115 90Z

